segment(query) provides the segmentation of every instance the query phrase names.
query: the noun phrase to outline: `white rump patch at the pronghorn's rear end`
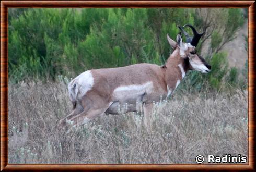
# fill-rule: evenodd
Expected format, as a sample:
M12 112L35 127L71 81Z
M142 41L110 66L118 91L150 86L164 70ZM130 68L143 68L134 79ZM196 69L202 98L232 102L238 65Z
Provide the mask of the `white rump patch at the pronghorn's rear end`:
M87 70L75 79L73 79L68 85L69 96L73 95L75 99L81 99L87 91L91 90L94 85L94 77L92 77L91 71ZM75 87L75 90L73 89ZM75 95L74 95L75 94Z

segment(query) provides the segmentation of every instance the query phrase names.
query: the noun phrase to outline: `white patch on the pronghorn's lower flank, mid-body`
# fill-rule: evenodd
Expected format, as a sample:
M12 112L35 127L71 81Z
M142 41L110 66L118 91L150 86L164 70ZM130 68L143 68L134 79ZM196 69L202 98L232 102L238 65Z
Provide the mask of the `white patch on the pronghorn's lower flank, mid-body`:
M141 85L120 86L113 91L115 99L125 102L125 100L139 99L144 93L150 94L153 90L153 82L149 81ZM139 100L140 101L140 100Z

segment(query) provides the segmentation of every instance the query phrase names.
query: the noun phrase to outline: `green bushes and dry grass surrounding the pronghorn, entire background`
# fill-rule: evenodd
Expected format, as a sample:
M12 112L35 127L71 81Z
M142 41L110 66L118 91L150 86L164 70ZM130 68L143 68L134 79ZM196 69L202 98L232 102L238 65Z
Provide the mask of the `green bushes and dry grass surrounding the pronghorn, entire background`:
M195 163L197 154L248 155L247 60L229 67L225 49L241 38L246 9L9 9L8 15L9 163ZM175 39L177 25L187 23L205 32L197 52L212 70L190 71L155 107L151 134L143 114L56 129L71 112L72 77L162 65L172 52L166 35ZM247 51L242 38L233 50Z

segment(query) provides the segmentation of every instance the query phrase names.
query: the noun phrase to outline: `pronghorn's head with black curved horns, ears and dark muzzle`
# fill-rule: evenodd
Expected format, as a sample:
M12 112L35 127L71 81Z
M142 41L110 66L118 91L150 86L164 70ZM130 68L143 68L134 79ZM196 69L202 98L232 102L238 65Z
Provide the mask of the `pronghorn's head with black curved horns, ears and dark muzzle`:
M169 44L174 47L174 48L179 48L179 54L180 57L183 58L184 60L189 61L189 69L190 70L197 70L201 71L202 73L208 73L211 70L211 66L205 61L203 57L201 57L199 54L196 53L196 45L198 44L201 36L203 34L199 34L196 32L195 28L191 26L190 24L184 25L188 26L192 29L194 36L193 38L188 35L187 32L184 31L184 29L180 26L180 30L182 33L185 34L186 37L186 43L182 41L181 38L181 32L177 35L177 42L173 41L169 35L167 35L167 39Z

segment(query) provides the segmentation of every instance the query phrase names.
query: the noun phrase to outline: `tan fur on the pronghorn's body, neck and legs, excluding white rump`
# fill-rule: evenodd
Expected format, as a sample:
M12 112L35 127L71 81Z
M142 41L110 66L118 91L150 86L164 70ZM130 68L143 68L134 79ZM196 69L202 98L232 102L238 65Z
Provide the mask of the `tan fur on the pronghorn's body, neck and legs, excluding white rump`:
M168 38L168 41L172 47L176 48L165 66L143 63L126 67L90 70L94 79L92 88L82 98L76 100L77 107L70 115L61 120L61 124L64 123L65 119L73 120L74 124L83 124L84 120L87 122L103 113L118 114L118 107L120 106L125 107L125 112L135 112L139 101L143 103L144 123L149 129L153 102L159 102L160 96L165 99L168 89L171 92L174 91L179 81L183 79L179 65L184 69L183 72L192 69L188 59L180 56L179 46L177 44L174 46L174 41L170 38ZM194 47L189 47L185 54L189 58L198 58L196 55L192 57L190 54L193 51L192 49ZM135 95L132 91L121 98L120 95L114 94L115 90L118 90L117 88L127 87L129 89L129 85L135 85L131 88L139 88L139 85L143 84L147 89L142 89L143 92L138 95ZM128 99L129 96L132 98ZM72 98L74 99L74 97Z

